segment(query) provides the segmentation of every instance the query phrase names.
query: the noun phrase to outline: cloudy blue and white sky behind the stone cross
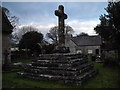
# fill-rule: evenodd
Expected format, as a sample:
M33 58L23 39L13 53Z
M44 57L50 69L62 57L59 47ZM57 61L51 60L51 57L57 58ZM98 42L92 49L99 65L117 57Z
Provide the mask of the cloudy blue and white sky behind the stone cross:
M95 35L94 27L100 23L99 17L105 14L107 2L2 2L12 15L19 18L19 27L32 25L44 34L58 25L54 11L59 5L64 6L68 18L65 24L73 28L74 35L81 32ZM18 29L14 33L20 32Z

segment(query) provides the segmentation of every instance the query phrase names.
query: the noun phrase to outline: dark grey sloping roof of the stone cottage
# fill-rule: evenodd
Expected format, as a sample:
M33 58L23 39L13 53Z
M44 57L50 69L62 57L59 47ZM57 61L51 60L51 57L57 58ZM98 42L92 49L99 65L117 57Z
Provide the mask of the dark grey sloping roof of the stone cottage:
M72 37L71 40L77 46L97 46L101 45L101 37L100 36L78 36Z

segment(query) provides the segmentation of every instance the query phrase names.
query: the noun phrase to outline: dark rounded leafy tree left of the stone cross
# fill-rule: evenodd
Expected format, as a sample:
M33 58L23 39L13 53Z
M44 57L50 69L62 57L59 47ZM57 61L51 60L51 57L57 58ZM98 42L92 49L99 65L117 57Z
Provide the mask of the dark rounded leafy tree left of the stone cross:
M36 31L27 32L22 36L19 42L19 48L34 50L37 43L41 43L42 40L43 34Z

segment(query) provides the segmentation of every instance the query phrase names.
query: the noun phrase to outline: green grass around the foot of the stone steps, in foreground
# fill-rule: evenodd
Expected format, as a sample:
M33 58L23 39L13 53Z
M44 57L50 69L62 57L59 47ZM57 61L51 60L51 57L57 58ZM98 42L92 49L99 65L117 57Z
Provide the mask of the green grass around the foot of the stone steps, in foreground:
M16 72L3 73L2 88L118 88L118 69L105 68L95 63L99 74L82 86L59 84L51 81L36 81L17 77Z

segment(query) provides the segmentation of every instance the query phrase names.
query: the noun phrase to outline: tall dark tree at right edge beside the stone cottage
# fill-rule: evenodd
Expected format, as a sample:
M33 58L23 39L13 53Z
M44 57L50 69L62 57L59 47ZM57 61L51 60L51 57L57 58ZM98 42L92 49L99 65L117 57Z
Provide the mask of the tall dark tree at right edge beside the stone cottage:
M100 16L100 24L94 30L102 37L107 49L120 49L120 1L112 1Z

